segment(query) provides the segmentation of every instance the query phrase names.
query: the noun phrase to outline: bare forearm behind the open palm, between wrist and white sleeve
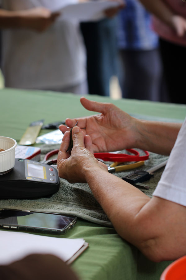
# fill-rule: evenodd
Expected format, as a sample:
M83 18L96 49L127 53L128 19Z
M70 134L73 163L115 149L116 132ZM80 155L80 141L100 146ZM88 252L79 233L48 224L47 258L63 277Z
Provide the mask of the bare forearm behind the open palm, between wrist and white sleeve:
M162 155L169 155L177 138L181 124L153 121L137 121L136 148Z

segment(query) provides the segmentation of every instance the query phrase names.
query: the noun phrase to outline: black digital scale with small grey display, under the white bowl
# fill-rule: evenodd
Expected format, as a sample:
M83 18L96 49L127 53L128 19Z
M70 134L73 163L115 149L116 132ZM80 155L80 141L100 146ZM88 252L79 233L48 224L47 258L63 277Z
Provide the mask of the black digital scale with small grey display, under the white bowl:
M60 179L54 167L16 158L13 169L0 176L0 199L49 197L59 187Z

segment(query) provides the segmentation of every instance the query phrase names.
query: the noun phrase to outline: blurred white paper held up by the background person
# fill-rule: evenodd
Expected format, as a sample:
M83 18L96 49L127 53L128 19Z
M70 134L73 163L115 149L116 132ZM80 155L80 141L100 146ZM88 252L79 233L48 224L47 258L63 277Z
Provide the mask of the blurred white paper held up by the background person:
M119 3L115 1L88 1L70 4L55 12L61 13L60 20L94 21L104 17L104 10L117 6Z

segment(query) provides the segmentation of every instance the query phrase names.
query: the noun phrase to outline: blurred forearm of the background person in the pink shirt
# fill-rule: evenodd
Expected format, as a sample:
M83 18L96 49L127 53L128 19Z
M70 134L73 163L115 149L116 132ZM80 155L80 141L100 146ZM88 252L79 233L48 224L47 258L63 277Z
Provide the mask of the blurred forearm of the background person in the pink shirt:
M162 0L149 1L149 0L140 0L140 2L145 6L145 8L157 16L160 20L166 24L172 26L172 16L174 13L167 7Z

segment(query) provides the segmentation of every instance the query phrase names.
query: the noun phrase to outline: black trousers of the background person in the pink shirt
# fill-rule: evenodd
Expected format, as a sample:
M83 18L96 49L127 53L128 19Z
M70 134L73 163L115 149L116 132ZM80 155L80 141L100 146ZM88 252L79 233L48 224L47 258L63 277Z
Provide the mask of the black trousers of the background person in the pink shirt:
M186 104L186 47L160 39L160 51L170 102Z

